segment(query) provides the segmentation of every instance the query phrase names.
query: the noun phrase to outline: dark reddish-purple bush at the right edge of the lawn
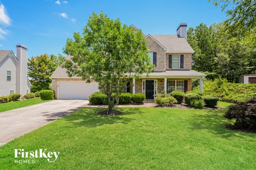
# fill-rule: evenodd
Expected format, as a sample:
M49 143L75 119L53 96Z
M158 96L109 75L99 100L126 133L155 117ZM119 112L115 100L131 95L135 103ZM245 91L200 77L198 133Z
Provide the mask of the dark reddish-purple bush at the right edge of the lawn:
M234 128L256 130L256 97L246 102L230 105L225 117L235 119Z

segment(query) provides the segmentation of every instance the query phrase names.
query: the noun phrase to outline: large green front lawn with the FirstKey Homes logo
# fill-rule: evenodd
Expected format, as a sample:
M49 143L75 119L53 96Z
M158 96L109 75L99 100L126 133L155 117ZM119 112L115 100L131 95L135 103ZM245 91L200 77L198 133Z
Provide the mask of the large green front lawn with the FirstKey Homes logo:
M228 105L227 103L219 103ZM82 108L0 147L2 169L254 169L256 134L225 128L225 109ZM14 149L59 151L14 163ZM19 158L18 160L26 160Z

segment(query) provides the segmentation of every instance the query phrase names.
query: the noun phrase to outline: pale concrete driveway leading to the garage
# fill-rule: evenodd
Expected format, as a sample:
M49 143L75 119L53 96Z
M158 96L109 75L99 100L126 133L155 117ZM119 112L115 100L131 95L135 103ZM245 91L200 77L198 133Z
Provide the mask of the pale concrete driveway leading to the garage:
M86 107L88 103L87 100L53 100L0 112L0 146L79 108Z

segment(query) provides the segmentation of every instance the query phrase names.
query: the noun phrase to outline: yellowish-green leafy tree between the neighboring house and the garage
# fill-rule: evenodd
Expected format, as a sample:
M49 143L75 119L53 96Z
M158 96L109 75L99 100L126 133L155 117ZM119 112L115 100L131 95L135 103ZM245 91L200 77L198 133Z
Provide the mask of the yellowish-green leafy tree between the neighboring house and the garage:
M28 77L31 78L31 91L41 91L49 89L51 83L50 76L59 65L58 57L51 54L28 59Z

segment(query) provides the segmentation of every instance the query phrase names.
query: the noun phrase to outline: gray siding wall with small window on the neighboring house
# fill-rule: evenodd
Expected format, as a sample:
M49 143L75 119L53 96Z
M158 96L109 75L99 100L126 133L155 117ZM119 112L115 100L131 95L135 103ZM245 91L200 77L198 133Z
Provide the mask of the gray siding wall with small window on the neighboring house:
M7 56L0 63L0 96L6 96L10 94L10 90L16 89L16 66L17 61L14 60L13 56ZM11 81L7 81L7 70L11 71Z

